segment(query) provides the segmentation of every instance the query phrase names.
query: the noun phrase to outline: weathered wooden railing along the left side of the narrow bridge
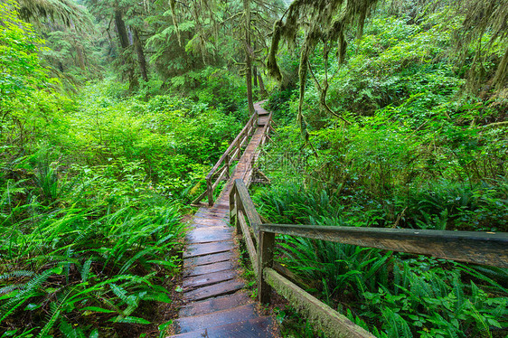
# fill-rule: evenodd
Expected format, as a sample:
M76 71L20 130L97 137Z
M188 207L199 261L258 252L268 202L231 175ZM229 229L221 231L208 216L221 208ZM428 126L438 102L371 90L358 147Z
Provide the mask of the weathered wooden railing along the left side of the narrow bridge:
M227 180L230 178L230 167L235 161L240 160L241 149L247 145L249 137L254 134L258 126L258 118L257 113L252 114L245 127L241 129L240 134L235 137L230 146L221 155L221 158L213 165L210 172L206 175L206 190L193 201L193 204L198 204L203 198L208 197L208 205L213 205L213 192L215 188L217 188L223 179Z

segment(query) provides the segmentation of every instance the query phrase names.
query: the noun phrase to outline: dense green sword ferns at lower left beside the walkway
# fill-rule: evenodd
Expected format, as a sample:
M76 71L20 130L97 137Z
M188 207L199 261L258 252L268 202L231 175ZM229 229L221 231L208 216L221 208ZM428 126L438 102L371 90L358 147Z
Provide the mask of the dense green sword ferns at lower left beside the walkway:
M180 264L178 205L125 188L113 206L84 175L66 179L43 164L33 172L7 181L0 201L2 336L142 332L154 302L171 302L165 281Z

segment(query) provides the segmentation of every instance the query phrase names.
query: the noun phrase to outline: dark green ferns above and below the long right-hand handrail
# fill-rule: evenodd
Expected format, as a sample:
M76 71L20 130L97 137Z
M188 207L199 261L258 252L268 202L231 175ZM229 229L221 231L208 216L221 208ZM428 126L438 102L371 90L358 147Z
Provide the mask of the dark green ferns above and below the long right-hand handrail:
M341 200L330 202L325 191L286 188L257 196L259 210L268 220L348 225L331 216L340 213ZM279 236L278 244L280 263L309 281L310 292L376 336L508 333L506 269L288 236ZM291 324L296 320L292 311L280 310L280 319ZM297 325L301 324L305 323Z

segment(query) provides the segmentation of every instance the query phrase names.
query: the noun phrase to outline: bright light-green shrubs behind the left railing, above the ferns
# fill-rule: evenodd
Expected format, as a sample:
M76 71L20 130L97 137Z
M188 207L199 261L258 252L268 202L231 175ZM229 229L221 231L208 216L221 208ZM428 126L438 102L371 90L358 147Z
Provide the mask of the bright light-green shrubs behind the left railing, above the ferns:
M106 92L100 86L84 90L80 110L71 117L81 131L72 147L91 160L81 160L80 171L96 175L94 182L105 191L112 191L118 179L128 184L125 179L137 175L145 177L139 181L146 189L179 195L204 178L240 129L233 115L206 102L169 95L147 102L121 99L116 93L122 89L113 83Z

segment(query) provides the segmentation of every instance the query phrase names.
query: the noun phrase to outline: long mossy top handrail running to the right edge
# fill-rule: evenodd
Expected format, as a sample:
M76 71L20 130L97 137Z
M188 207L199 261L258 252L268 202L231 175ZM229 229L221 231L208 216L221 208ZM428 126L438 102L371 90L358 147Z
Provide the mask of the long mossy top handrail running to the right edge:
M508 233L261 224L260 231L508 268Z

